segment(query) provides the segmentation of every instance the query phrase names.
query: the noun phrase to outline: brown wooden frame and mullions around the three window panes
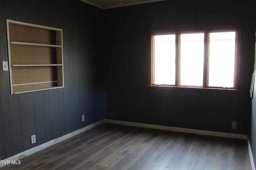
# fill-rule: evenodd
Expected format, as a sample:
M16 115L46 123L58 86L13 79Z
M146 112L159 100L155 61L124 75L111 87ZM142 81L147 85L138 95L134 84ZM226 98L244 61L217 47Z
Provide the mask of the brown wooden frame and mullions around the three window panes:
M209 49L209 35L211 32L222 31L236 31L236 51L235 51L235 69L234 69L234 88L221 88L208 86L209 78L209 62L208 62L208 49ZM204 33L204 70L203 70L203 86L185 86L180 85L180 33ZM154 84L154 35L176 35L176 73L175 84L173 85L156 85ZM228 26L213 26L213 27L198 27L198 28L182 28L182 29L168 29L168 30L154 30L148 33L148 88L149 89L164 89L164 90L196 90L207 92L226 92L238 93L239 92L239 77L240 77L240 51L241 51L241 26L228 25Z

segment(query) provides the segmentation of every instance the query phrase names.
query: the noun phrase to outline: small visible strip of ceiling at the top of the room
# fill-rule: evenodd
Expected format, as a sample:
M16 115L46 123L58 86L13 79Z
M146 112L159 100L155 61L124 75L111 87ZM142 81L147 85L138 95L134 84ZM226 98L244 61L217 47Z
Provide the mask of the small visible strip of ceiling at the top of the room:
M87 4L91 4L101 9L109 9L109 8L118 8L122 6L144 4L144 3L157 2L157 1L163 1L163 0L80 0L80 1L86 2Z

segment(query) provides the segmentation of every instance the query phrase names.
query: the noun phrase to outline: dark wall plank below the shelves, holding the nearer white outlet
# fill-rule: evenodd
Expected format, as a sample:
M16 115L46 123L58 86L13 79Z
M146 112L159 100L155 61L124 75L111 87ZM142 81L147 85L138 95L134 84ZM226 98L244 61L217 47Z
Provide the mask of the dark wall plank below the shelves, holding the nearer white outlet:
M34 95L33 93L24 93L19 96L23 149L28 150L36 147L36 143L31 144L31 135L36 134Z

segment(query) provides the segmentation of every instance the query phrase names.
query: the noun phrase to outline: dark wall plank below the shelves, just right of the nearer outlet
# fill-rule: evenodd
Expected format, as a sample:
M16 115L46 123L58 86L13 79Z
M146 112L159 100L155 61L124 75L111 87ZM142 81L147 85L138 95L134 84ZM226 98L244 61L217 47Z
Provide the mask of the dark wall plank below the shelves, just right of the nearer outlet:
M36 121L36 143L46 143L46 121L44 115L44 92L34 92L34 108Z

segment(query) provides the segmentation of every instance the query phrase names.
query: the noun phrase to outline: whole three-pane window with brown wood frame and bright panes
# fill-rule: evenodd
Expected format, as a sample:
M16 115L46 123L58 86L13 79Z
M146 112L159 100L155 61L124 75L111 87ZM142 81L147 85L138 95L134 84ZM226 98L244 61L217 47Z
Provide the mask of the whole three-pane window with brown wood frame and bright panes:
M156 30L149 40L150 88L238 92L239 25Z

